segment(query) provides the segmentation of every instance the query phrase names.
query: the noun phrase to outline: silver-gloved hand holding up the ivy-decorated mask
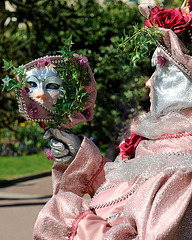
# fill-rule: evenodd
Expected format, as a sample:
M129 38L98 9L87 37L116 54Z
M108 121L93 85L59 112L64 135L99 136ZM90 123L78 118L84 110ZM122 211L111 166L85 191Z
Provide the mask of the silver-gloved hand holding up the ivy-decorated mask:
M50 128L43 138L51 138L51 152L57 162L71 163L81 146L79 137L59 129Z

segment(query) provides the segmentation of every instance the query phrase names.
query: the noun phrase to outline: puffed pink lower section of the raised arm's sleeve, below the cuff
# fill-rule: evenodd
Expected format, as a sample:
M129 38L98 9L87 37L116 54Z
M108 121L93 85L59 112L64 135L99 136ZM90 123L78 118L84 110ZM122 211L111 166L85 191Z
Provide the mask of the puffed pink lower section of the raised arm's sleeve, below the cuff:
M106 221L89 209L83 198L71 192L63 192L53 196L39 213L33 239L103 239L109 228Z

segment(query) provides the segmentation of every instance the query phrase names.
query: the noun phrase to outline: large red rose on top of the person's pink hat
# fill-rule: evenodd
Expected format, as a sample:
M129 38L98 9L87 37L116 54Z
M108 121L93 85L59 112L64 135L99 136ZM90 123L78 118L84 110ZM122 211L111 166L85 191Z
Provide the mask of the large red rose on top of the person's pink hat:
M145 26L152 27L154 25L162 28L168 28L175 33L185 31L191 25L192 15L186 13L181 8L154 7L148 20L145 20Z

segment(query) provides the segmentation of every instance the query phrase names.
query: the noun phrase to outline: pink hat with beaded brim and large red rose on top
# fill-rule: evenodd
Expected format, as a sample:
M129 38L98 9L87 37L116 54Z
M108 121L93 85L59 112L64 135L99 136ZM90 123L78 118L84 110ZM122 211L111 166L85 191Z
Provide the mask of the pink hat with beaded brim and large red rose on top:
M141 4L139 10L148 28L158 27L161 36L157 46L189 77L192 77L192 4L186 7L165 9L156 4Z

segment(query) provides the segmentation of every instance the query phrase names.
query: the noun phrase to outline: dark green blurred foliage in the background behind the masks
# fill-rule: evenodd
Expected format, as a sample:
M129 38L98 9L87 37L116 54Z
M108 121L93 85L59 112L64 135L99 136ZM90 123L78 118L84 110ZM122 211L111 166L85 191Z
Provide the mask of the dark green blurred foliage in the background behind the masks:
M126 52L116 57L114 44L123 32L131 34L133 25L142 25L137 6L121 1L99 5L96 0L10 0L13 10L8 10L6 2L0 2L0 55L16 66L25 64L56 54L72 34L73 50L88 57L98 86L94 120L72 132L92 136L99 145L120 141L130 119L149 107L144 84L153 71L150 54L132 67ZM15 131L15 119L24 120L14 92L1 93L0 105L0 128Z

